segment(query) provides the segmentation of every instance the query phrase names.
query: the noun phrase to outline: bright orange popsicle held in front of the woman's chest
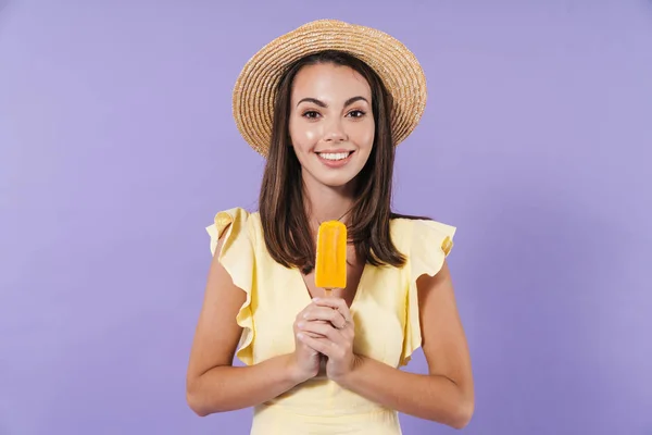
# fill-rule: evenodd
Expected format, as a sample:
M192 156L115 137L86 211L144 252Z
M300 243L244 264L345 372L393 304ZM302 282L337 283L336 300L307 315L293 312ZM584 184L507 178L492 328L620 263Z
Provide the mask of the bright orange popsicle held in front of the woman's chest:
M347 225L327 221L317 233L315 285L330 291L347 287Z

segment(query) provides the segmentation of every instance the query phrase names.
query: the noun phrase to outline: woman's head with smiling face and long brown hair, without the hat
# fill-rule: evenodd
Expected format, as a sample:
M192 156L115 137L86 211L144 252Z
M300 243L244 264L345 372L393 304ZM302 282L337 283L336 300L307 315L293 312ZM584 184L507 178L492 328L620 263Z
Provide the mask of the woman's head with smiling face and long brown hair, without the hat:
M279 77L259 194L265 246L279 264L304 274L314 269L314 221L306 199L309 208L313 198L329 208L343 197L352 200L349 234L364 237L356 254L373 252L378 264L404 264L387 233L393 104L368 64L337 50L301 58Z

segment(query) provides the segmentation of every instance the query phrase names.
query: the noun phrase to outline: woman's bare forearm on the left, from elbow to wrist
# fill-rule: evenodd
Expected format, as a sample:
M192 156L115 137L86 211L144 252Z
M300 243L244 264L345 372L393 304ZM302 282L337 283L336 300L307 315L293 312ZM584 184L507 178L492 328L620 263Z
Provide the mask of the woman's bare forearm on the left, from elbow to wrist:
M188 403L199 415L249 408L299 384L291 356L250 366L216 366L188 386Z

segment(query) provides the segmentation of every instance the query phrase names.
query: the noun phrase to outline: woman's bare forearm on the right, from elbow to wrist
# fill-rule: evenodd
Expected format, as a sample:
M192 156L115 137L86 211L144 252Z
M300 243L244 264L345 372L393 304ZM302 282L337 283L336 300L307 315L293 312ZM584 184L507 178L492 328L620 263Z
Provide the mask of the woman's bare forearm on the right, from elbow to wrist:
M369 358L359 357L338 383L387 408L456 428L473 412L473 400L448 377L403 372Z

